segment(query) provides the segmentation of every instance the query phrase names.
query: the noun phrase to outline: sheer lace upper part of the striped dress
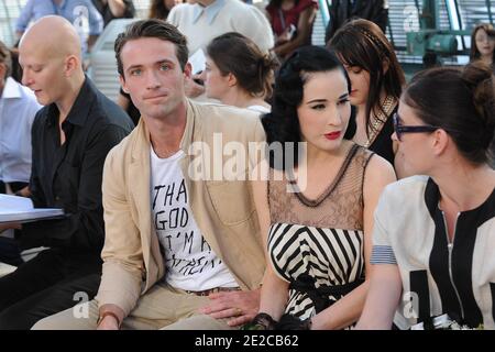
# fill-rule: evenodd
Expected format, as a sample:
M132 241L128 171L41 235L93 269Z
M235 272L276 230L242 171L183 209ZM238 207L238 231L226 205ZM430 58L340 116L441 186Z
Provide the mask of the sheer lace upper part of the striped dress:
M287 179L268 182L270 216L273 223L305 224L316 228L363 229L364 170L373 155L354 144L337 177L315 200L307 199Z

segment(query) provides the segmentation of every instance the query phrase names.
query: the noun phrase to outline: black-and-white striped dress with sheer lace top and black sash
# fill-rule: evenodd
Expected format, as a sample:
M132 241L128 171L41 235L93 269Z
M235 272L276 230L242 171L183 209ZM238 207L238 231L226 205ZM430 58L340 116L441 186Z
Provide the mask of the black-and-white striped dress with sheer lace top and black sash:
M371 156L354 144L336 179L316 200L287 193L286 180L268 183L270 258L290 283L285 312L312 317L362 283L363 179ZM324 302L307 287L320 296L322 292Z

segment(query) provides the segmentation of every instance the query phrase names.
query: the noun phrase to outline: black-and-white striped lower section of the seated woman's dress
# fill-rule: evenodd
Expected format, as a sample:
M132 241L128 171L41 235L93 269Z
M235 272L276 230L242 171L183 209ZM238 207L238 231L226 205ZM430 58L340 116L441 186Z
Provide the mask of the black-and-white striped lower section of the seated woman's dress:
M270 229L268 253L275 272L286 282L306 273L317 286L332 286L364 276L363 232L359 230L277 222ZM340 298L329 296L332 301ZM315 308L306 294L292 289L286 312L307 319Z

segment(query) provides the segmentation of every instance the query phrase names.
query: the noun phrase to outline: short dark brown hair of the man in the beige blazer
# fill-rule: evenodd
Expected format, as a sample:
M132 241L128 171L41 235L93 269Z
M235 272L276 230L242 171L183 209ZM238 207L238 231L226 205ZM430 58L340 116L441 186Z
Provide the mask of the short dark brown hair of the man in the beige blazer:
M124 74L120 53L122 52L125 43L142 37L156 37L162 41L174 43L177 59L180 64L180 68L184 70L189 58L186 37L177 30L176 26L163 20L151 19L131 23L124 32L117 36L114 44L117 69L122 77L124 77Z

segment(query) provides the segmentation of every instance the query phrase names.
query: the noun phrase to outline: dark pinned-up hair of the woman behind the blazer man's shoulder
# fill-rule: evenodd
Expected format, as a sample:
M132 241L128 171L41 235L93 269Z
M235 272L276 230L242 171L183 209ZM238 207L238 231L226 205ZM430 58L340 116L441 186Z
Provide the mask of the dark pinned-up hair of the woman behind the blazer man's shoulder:
M232 74L238 85L253 97L270 98L278 62L263 53L250 38L235 32L217 36L207 46L208 56L223 76Z

